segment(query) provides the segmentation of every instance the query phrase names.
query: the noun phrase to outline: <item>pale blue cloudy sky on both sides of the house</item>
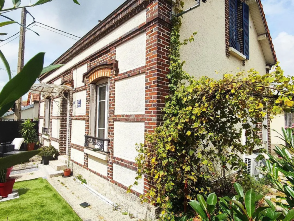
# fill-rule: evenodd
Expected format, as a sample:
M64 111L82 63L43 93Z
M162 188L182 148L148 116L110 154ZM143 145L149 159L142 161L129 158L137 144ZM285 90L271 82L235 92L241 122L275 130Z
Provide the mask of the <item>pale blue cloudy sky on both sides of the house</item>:
M124 1L79 0L81 5L76 5L72 0L53 0L41 6L28 8L28 11L36 21L82 37ZM29 0L22 0L22 5L27 5L29 2ZM262 0L262 3L280 66L284 69L285 75L294 75L294 25L292 22L294 21L294 0ZM4 8L11 6L11 0L6 0ZM20 22L20 14L21 10L16 10L6 13L6 16ZM3 21L6 19L0 17L0 22ZM27 25L31 22L32 18L27 15ZM32 30L40 36L32 31L26 32L25 63L38 52L46 52L44 66L50 65L76 42L74 39L38 26L33 26ZM0 36L0 38L5 39L18 31L17 24L1 27L0 32L8 33L8 35ZM0 43L0 49L10 64L12 74L15 75L19 38L6 44L12 39ZM0 90L8 81L7 73L3 69L5 67L0 61ZM26 96L23 99L26 99Z

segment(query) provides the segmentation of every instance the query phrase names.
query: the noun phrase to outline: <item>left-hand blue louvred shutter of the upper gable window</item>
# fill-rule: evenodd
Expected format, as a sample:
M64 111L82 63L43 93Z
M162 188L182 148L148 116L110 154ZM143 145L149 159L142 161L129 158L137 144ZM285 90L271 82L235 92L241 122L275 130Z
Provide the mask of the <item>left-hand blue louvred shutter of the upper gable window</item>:
M237 0L229 0L230 46L237 49Z

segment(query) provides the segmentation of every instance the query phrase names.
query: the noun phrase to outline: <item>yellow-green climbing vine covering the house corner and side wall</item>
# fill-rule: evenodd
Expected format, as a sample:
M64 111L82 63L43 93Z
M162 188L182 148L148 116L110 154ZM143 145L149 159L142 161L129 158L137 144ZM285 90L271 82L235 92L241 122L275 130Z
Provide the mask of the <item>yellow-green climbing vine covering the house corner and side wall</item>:
M178 0L175 12L181 12ZM212 188L215 174L242 173L243 153L261 146L258 127L266 115L289 112L293 105L294 77L275 71L260 75L224 74L221 80L201 75L195 79L183 71L180 48L194 40L180 41L181 18L172 19L170 44L170 95L166 97L161 126L137 146L137 179L147 175L153 186L141 196L161 208L160 219L174 221L187 200ZM242 132L247 140L242 145ZM217 166L216 166L217 165ZM137 182L135 182L137 184Z

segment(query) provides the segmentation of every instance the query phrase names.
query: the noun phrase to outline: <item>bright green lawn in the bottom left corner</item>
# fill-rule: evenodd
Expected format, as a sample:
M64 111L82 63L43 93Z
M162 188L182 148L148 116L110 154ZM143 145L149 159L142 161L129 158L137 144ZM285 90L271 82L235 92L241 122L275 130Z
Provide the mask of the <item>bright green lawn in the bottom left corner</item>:
M0 221L82 221L45 179L16 182L14 189L20 198L0 203Z

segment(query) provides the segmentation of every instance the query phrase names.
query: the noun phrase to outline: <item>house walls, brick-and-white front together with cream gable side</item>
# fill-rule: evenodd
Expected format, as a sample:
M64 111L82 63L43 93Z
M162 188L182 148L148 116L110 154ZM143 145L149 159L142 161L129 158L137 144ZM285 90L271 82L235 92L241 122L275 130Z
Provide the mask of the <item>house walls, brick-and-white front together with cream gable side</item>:
M214 70L250 66L266 72L266 65L275 63L266 60L265 49L254 39L253 25L250 58L241 56L240 47L239 53L232 49L227 36L229 1L210 0L211 5L201 4L183 16L183 38L198 31L196 41L182 49L188 73L212 76ZM188 8L197 1L184 2ZM64 66L39 78L41 83L71 88L41 95L41 142L67 155L75 176L82 175L93 189L144 218L156 216L156 208L140 204L138 198L150 187L147 178L142 177L130 194L126 190L136 177L136 144L144 143L144 135L162 121L161 109L169 93L173 3L127 0L54 62Z

